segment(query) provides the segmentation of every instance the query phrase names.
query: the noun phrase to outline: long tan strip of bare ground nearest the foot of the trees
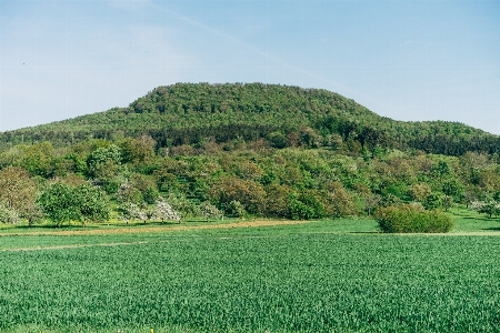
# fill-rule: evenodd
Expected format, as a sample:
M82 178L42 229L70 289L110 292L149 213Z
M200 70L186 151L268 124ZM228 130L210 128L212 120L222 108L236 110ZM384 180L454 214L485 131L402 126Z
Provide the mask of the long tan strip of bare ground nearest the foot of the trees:
M147 233L147 232L166 232L166 231L181 231L181 230L203 230L203 229L230 229L230 228L254 228L254 226L271 226L271 225L287 225L287 224L303 224L311 221L272 221L258 220L224 224L207 224L207 225L164 225L164 226L123 226L117 229L91 229L91 230L61 230L61 231L37 231L26 233L0 233L0 236L9 235L92 235L92 234L122 234L122 233Z

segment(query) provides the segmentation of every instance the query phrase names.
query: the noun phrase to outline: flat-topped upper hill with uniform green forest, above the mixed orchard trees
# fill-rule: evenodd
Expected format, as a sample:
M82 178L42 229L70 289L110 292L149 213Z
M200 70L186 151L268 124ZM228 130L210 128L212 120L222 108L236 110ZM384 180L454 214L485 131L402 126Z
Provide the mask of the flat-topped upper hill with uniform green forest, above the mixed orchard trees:
M394 121L327 90L262 83L159 87L128 108L0 133L0 144L63 147L141 134L151 135L158 148L264 138L277 148L341 144L353 152L377 147L448 155L500 150L500 137L461 123Z

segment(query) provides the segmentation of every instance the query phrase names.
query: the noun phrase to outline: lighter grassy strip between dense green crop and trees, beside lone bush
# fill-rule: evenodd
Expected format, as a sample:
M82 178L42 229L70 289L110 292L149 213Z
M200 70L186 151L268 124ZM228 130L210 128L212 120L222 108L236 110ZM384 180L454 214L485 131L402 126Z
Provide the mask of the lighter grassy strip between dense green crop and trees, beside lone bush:
M464 209L454 209L450 212L456 223L449 235L500 235L500 220L488 219ZM17 228L0 229L0 251L11 249L44 249L68 245L92 245L92 244L118 244L134 242L154 242L160 240L208 236L267 236L267 235L290 235L290 234L314 234L314 233L340 233L370 235L378 234L377 222L368 219L339 219L323 221L304 221L301 224L281 224L292 221L263 222L277 223L277 225L261 225L252 220L226 219L224 221L213 220L206 222L202 220L190 220L181 225L177 223L160 222L91 224L87 228L77 225L64 225L53 228L52 225L38 225L28 228L20 225ZM293 223L293 222L292 222ZM91 233L91 234L87 234ZM93 233L93 234L92 234Z

